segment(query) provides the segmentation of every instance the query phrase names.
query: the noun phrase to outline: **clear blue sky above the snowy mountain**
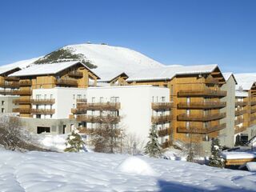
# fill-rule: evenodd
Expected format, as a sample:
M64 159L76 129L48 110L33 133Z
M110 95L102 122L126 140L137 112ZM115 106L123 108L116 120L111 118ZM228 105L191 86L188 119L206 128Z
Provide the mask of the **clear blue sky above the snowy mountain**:
M0 65L90 41L256 72L255 10L254 0L2 0Z

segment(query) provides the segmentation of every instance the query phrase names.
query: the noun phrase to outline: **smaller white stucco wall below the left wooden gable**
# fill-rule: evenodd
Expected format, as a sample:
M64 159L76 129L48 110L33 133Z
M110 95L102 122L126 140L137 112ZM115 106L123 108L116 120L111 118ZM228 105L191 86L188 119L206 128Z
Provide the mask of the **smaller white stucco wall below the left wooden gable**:
M52 109L55 110L55 113L53 114L52 118L69 118L69 115L71 114L71 109L76 107L76 99L78 98L78 95L81 95L82 98L85 98L86 91L86 89L70 87L37 89L33 90L32 98L36 99L36 95L40 95L41 99L50 99L50 95L52 95L52 98L55 99L55 103L52 106ZM32 108L36 109L36 106L33 105ZM39 105L38 109L50 109L50 105ZM50 115L42 115L41 118L50 118Z

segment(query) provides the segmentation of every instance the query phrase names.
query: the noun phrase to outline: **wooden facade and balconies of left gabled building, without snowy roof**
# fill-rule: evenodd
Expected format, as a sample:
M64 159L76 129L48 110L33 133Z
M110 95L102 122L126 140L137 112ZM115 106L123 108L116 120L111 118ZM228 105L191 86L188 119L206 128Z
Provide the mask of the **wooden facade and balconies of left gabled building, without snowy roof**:
M19 105L18 111L21 117L31 118L33 114L54 114L54 110L31 110L32 105L53 105L55 102L54 99L33 99L32 90L54 87L87 88L97 85L98 76L78 62L56 74L28 75L18 78L19 98L14 100L14 103ZM90 84L90 80L94 82L93 85Z

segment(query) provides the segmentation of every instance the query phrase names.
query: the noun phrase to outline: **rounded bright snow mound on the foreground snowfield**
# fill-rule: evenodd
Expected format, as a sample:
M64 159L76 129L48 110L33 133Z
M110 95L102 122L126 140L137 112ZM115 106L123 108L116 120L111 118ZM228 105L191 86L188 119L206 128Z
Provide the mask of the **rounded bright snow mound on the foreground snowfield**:
M126 158L126 160L118 166L118 170L128 174L141 174L147 176L157 175L150 164L143 161L141 158L136 157Z

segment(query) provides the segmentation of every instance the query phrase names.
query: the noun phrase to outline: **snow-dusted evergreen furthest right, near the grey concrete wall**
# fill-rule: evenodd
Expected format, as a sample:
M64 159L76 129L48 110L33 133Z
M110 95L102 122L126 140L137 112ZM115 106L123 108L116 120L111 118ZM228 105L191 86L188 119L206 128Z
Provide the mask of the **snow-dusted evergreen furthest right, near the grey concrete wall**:
M225 166L224 159L220 156L221 146L218 138L215 138L211 143L211 155L209 158L209 166L223 168Z

